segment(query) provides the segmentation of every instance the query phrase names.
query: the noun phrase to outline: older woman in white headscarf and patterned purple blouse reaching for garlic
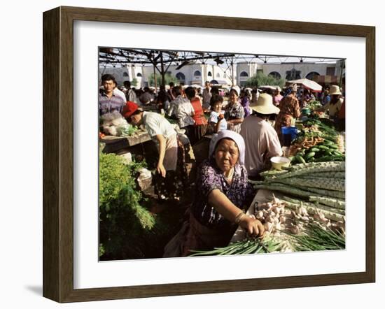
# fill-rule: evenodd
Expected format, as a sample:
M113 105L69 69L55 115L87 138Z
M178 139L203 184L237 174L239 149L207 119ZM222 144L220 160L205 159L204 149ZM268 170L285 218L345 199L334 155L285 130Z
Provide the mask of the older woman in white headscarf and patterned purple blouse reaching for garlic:
M164 257L226 246L238 225L250 235L263 235L263 224L244 213L255 194L244 167L244 149L244 139L236 132L218 133L197 174L190 219L166 246Z

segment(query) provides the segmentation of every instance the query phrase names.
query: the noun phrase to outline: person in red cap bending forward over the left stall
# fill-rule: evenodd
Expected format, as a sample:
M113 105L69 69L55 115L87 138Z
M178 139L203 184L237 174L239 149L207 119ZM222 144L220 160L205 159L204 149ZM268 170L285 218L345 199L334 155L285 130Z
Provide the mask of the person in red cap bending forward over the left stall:
M168 120L158 113L145 112L137 104L127 101L123 117L135 126L144 125L159 152L154 177L155 192L160 200L180 197L186 186L187 173L183 161L183 145L178 142L176 131Z

